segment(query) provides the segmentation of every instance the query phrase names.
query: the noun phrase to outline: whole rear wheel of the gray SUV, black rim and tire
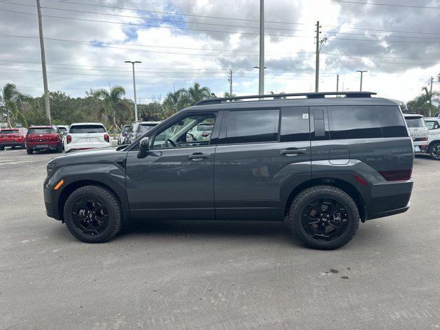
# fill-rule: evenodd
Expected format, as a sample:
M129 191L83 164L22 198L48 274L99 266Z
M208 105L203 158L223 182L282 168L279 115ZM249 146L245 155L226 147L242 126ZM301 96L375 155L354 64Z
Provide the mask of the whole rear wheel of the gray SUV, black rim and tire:
M292 201L289 223L307 248L333 250L349 243L359 227L359 210L346 192L333 186L303 190Z

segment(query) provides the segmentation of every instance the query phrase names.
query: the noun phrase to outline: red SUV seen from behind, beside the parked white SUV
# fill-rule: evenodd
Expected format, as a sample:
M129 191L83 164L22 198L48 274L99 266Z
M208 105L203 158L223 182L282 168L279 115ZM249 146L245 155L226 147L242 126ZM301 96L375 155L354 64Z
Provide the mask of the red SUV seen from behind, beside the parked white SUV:
M37 150L56 150L62 153L63 133L56 126L30 126L26 135L26 151L32 155Z

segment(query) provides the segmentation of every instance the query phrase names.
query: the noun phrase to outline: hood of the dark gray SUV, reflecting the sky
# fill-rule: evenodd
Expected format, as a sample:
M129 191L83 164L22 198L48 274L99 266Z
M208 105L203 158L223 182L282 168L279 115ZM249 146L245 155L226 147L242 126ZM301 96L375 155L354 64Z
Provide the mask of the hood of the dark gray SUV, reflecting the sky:
M117 150L120 149L120 150ZM124 149L115 146L108 148L96 148L84 151L73 151L64 155L55 157L49 163L55 163L60 166L76 165L76 164L93 164L93 163L109 163L115 162L115 159L126 157Z

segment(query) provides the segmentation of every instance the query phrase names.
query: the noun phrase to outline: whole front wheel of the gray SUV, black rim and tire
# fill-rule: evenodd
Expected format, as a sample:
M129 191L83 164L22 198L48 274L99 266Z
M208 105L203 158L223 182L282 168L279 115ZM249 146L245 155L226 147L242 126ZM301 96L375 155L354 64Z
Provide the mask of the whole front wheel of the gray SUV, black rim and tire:
M84 186L67 198L64 221L80 241L103 243L120 231L122 210L118 199L106 188Z

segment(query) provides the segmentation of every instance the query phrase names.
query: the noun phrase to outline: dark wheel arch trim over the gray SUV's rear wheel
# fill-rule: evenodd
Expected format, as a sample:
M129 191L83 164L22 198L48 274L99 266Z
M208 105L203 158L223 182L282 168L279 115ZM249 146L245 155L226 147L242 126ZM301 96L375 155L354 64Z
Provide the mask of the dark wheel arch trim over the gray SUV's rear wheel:
M287 197L287 201L285 202L285 212L284 215L287 216L289 214L289 209L292 204L294 198L303 190L310 188L312 186L333 186L339 188L340 190L346 192L355 202L356 206L358 206L360 219L362 222L366 221L366 203L365 198L362 195L362 192L358 190L353 184L348 181L342 179L336 179L334 177L320 177L316 179L309 179L304 181L302 184L296 186L292 192L290 192L289 197Z

